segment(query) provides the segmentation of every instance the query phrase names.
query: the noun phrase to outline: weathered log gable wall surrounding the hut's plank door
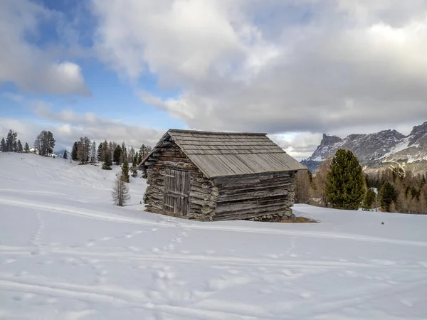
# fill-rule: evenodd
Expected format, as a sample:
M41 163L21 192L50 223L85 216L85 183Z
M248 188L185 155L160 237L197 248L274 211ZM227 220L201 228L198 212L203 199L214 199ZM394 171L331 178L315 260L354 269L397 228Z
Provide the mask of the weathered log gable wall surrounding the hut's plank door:
M148 159L147 169L147 203L146 208L150 212L164 213L164 171L166 168L185 170L191 174L189 194L189 214L186 218L196 220L213 220L216 208L216 196L218 188L213 181L204 177L199 169L173 142L165 144L162 149L152 154Z

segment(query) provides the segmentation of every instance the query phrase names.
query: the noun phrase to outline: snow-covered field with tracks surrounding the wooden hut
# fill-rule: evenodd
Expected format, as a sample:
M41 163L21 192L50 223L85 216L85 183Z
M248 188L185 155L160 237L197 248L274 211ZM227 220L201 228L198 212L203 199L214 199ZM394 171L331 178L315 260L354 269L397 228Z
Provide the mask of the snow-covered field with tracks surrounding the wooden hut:
M112 206L117 172L0 153L0 319L427 319L427 216L198 223L142 178Z

